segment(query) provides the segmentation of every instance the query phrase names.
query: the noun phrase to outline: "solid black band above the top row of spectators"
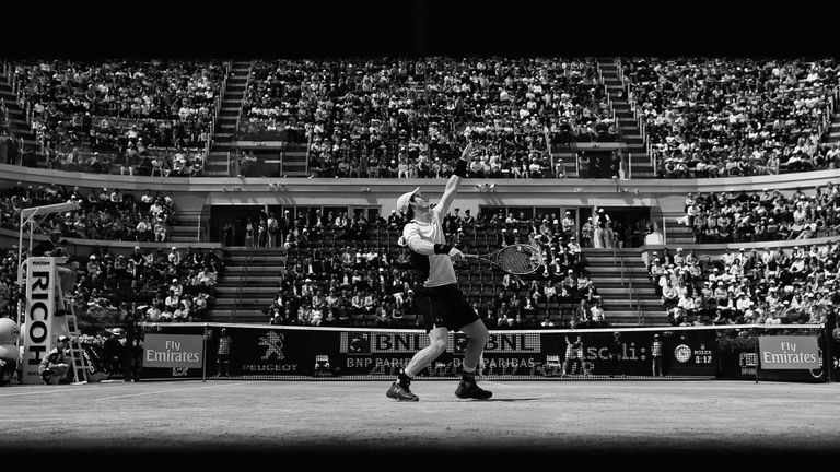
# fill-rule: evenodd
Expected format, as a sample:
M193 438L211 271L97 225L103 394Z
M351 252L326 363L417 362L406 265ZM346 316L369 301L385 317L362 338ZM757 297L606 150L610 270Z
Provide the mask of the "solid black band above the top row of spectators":
M12 3L2 19L11 39L5 57L837 54L836 28L820 20L832 15L818 5L791 12L749 4L739 12L722 1Z

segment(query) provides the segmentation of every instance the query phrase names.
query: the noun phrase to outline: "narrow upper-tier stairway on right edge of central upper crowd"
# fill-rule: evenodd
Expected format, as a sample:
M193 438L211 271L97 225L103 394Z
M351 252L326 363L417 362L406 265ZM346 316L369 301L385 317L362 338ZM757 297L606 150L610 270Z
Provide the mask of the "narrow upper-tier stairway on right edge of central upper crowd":
M615 58L599 58L598 67L607 86L612 109L616 111L616 125L618 126L621 141L627 143L627 152L632 155L630 177L653 178L653 166L644 146L644 137L639 129L639 123L633 117L630 103L627 101L627 88L618 75L618 64Z

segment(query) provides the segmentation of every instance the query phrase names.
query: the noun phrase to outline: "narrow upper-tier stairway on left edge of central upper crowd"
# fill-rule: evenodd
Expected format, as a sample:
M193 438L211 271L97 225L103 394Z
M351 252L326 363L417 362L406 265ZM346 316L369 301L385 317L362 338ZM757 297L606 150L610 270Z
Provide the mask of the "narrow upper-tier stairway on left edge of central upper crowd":
M242 101L248 83L250 61L233 61L231 73L222 95L222 108L213 130L213 145L205 164L206 176L228 177L228 153L233 151L236 138L236 120L242 113Z

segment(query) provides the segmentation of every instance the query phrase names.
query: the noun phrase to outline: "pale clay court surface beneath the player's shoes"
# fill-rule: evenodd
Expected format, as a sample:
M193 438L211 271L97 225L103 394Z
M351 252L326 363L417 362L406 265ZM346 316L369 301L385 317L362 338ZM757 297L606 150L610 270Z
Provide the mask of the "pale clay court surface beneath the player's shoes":
M254 455L406 451L478 456L795 452L840 449L840 385L754 381L186 380L0 388L5 451ZM475 456L475 455L474 455ZM165 457L165 456L161 456Z

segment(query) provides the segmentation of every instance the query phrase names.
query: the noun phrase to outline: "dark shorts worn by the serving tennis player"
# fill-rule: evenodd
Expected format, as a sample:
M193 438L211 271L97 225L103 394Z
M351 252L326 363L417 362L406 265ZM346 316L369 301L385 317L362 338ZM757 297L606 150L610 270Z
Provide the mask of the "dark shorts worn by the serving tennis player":
M458 331L481 319L456 284L415 287L415 309L422 317L425 332L442 327Z

